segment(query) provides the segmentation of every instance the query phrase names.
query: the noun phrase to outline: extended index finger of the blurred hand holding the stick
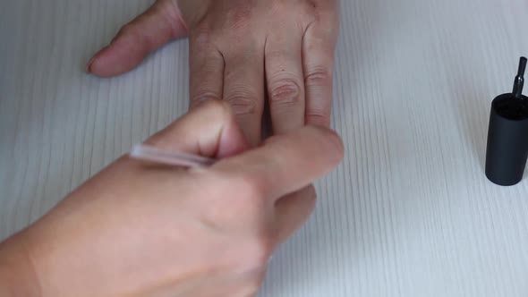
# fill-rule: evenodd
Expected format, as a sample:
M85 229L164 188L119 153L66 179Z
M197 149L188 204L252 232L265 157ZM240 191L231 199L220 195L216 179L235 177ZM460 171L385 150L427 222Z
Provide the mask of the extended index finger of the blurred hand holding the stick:
M274 136L260 148L219 161L211 170L276 201L328 174L343 154L343 142L336 132L306 126Z

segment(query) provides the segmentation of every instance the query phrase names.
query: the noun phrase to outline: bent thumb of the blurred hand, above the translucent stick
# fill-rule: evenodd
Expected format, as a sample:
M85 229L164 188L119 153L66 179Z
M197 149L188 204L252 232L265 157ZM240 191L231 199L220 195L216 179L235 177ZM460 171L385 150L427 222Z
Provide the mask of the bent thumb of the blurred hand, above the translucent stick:
M215 100L183 115L145 143L168 151L216 158L232 157L249 148L231 108Z

